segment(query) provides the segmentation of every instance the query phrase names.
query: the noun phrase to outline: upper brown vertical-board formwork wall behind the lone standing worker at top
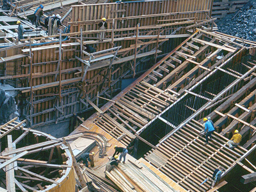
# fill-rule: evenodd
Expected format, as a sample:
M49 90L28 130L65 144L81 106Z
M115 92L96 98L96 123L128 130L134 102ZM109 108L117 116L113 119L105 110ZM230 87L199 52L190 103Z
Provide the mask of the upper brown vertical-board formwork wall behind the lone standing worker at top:
M71 32L83 30L99 29L97 24L102 17L107 20L107 29L127 29L115 32L116 37L129 37L136 35L137 24L140 27L149 26L147 29L140 30L140 35L157 35L158 30L162 35L170 35L179 26L182 26L176 34L184 34L185 26L196 22L207 20L210 15L212 0L154 0L143 2L128 3L104 3L72 6L71 13ZM96 13L96 14L95 14ZM208 16L208 17L207 17ZM114 26L112 27L114 19ZM151 27L150 27L151 26ZM158 28L156 26L162 26ZM131 28L130 30L128 30ZM134 29L135 28L135 29ZM87 37L95 37L96 34ZM111 38L111 32L105 33L106 38ZM181 41L170 42L173 48ZM133 41L121 41L118 46L130 47ZM148 45L147 50L156 46L156 43ZM107 47L104 47L106 49ZM169 50L169 45L162 49Z

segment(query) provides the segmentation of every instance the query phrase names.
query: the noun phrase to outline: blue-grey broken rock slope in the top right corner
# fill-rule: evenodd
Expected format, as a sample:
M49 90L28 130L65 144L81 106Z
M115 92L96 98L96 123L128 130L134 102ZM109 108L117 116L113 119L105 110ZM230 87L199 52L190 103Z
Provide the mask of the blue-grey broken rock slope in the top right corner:
M256 0L251 0L236 13L216 22L218 31L250 41L256 41Z

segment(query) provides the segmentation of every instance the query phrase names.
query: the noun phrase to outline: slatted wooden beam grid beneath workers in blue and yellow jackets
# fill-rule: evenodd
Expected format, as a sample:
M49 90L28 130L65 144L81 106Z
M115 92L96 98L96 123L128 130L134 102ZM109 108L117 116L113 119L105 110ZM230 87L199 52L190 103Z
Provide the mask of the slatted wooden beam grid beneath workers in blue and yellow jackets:
M210 144L205 146L204 137L199 135L201 130L200 126L189 122L157 149L148 152L145 160L187 190L203 192L210 189L212 180L208 180L201 187L199 184L211 177L218 166L224 169L232 166L246 150L241 147L236 151L230 150L227 139L224 140L217 133L213 134Z

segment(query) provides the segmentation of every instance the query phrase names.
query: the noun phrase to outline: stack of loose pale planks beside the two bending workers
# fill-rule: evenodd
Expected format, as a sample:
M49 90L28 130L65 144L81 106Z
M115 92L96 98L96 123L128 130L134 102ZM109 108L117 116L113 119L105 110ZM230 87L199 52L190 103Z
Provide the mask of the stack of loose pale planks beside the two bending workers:
M177 192L143 163L131 158L106 175L123 192Z

